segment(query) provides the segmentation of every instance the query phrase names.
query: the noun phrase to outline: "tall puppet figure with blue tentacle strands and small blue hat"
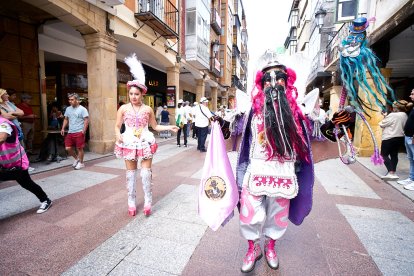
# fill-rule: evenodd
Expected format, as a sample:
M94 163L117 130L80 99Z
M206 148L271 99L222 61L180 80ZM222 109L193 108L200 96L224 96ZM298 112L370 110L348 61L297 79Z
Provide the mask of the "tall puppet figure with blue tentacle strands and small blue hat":
M321 131L326 138L338 142L340 158L345 164L355 162L356 155L347 129L351 121L350 114L352 112L356 112L359 115L370 132L374 145L374 153L371 156L371 161L375 165L383 163L376 139L364 113L367 109L385 111L386 103L392 104L395 100L394 91L388 85L377 66L379 62L378 57L367 45L366 30L368 26L369 21L365 17L359 17L353 20L349 26L348 37L339 47L339 65L343 85L339 109L334 113L332 120L321 127ZM371 87L368 83L367 79L369 76L372 77L374 87ZM358 87L360 91L365 93L368 102L358 96ZM345 107L347 99L349 106ZM341 138L345 141L347 151L349 152L346 156L341 153L339 144Z

